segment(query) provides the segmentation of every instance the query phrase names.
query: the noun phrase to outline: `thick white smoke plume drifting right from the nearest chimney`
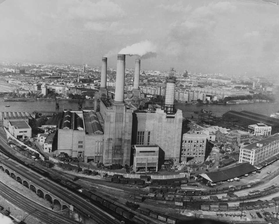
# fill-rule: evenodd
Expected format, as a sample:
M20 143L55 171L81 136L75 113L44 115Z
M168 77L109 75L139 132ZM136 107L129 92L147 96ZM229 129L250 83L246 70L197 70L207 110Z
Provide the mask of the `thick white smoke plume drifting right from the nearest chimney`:
M118 54L138 55L140 58L155 57L156 47L151 41L145 40L123 48Z

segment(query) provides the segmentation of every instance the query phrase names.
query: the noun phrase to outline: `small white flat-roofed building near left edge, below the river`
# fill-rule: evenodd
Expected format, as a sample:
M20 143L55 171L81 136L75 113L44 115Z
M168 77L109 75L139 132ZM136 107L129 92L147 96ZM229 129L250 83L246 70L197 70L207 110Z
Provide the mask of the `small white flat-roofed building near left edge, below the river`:
M26 121L8 121L8 130L17 139L31 138L31 127Z

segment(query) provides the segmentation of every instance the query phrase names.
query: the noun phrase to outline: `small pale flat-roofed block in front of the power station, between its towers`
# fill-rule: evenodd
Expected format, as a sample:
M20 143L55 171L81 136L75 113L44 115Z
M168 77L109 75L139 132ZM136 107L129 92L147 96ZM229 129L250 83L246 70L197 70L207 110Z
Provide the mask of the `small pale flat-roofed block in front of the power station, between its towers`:
M158 145L135 145L133 154L135 172L158 172Z

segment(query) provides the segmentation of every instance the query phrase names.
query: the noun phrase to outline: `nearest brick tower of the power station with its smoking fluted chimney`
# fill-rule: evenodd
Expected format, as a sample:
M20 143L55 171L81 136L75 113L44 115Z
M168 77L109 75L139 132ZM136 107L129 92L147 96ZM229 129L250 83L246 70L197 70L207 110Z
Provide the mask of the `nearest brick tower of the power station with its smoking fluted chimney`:
M104 163L130 164L132 110L124 103L125 54L118 54L115 98L111 106L100 99L100 113L104 119Z

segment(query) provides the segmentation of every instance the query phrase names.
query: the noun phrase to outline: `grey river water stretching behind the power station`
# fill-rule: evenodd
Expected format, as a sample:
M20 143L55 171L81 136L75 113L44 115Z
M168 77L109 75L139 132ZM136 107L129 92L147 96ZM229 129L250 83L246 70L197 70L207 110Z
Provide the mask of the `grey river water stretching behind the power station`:
M61 112L64 109L78 110L78 101L76 100L58 100L59 102L59 111ZM94 101L83 101L83 106L93 107ZM5 107L9 105L10 107ZM258 114L263 114L270 116L279 110L279 104L277 103L248 103L248 104L176 104L176 108L182 110L183 117L198 118L198 114L195 114L194 111L199 111L201 109L211 110L213 115L222 116L229 110L241 111L247 110L255 112ZM93 109L93 108L92 108ZM55 100L48 99L35 99L34 101L26 102L4 102L3 99L0 99L0 111L24 111L24 112L51 112L55 111Z

